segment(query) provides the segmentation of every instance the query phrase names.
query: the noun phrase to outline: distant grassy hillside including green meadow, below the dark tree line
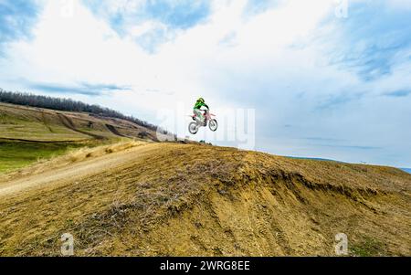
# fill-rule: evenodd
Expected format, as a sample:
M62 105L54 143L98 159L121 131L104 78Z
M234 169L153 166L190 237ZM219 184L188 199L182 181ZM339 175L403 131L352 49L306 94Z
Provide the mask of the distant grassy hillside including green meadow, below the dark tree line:
M0 174L72 149L124 138L155 140L155 132L132 122L89 113L0 103Z

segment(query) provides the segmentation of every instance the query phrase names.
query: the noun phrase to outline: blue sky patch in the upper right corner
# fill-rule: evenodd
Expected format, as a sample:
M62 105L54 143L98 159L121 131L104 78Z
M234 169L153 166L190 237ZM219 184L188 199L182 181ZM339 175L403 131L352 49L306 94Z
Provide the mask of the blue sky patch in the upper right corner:
M346 19L330 16L324 24L335 24L337 32L324 39L336 39L331 61L354 71L360 79L372 81L392 74L406 61L411 49L411 16L406 10L390 8L386 1L352 3Z

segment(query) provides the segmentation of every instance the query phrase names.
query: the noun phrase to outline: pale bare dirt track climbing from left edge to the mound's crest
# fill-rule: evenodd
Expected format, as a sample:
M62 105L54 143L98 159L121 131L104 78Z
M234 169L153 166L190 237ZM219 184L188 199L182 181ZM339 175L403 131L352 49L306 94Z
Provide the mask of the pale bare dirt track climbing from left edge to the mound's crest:
M118 153L110 153L92 158L77 164L45 171L40 175L31 175L18 178L9 182L0 182L0 197L17 192L31 190L43 185L58 185L65 182L79 181L82 177L98 175L112 168L130 164L145 153L150 153L158 147L156 143L142 144Z

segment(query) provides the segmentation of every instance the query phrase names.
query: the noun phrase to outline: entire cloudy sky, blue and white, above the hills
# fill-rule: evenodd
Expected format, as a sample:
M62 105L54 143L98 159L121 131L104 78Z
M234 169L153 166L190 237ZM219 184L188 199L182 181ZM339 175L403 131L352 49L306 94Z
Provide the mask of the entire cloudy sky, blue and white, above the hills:
M159 124L201 96L258 151L411 167L410 75L409 0L0 0L1 88Z

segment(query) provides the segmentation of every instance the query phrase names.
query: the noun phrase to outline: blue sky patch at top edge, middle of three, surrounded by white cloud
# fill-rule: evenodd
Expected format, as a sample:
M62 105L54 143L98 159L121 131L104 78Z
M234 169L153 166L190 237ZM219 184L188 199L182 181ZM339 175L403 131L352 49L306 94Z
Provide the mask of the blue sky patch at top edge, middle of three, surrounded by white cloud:
M163 27L153 27L136 37L135 41L147 52L154 53L158 46L174 37L176 31L196 26L211 13L210 1L198 0L146 0L128 1L111 11L110 1L83 0L96 16L109 21L111 27L121 36L127 35L127 28L144 22L155 22Z

